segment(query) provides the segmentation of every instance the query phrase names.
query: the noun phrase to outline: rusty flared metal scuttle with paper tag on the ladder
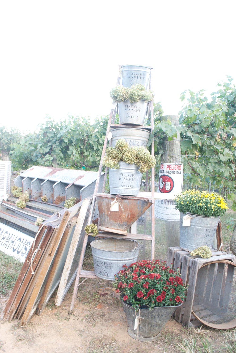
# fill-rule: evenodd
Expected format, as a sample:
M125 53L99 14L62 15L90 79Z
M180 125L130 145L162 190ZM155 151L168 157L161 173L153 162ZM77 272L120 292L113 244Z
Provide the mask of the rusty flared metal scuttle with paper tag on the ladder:
M96 198L100 218L99 230L123 235L128 234L127 229L152 204L145 197L96 194Z

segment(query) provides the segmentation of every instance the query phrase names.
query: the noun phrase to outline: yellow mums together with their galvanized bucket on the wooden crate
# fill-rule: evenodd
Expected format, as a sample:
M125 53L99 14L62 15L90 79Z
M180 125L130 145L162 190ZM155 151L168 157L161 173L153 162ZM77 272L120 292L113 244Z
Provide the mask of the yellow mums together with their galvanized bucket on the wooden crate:
M180 211L180 247L192 251L207 245L211 249L219 216L228 209L224 198L216 192L192 189L176 195L174 201Z

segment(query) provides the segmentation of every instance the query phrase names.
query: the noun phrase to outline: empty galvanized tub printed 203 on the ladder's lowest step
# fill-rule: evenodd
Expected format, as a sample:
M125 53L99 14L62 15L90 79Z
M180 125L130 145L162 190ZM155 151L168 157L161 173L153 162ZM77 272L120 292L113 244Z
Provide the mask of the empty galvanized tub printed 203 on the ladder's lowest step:
M137 261L140 248L137 241L116 238L93 240L90 245L95 275L110 281L114 281L123 265Z

